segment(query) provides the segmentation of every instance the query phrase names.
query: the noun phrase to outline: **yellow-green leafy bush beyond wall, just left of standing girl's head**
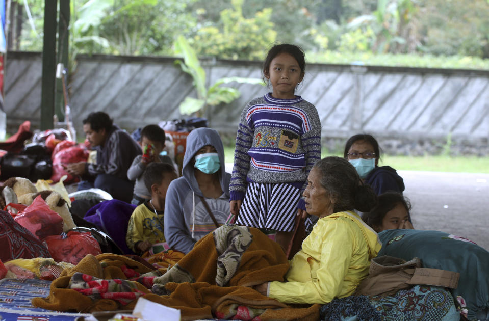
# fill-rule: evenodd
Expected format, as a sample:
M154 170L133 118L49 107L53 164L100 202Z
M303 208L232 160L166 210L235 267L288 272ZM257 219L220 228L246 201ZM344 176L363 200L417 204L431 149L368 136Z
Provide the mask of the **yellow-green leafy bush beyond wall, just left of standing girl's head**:
M243 17L243 0L233 0L217 24L197 30L192 46L199 55L244 60L261 60L264 48L275 41L277 33L270 21L271 9L265 8L252 18Z

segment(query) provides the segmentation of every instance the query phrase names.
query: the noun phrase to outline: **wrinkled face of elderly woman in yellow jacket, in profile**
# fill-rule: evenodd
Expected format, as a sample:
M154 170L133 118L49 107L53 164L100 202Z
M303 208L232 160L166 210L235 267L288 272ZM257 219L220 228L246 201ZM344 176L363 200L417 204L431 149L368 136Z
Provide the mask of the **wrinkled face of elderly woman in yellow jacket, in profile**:
M307 177L307 187L305 188L305 210L311 215L315 215L319 218L327 217L332 214L333 203L329 198L328 192L320 183L321 172L314 167L309 176Z

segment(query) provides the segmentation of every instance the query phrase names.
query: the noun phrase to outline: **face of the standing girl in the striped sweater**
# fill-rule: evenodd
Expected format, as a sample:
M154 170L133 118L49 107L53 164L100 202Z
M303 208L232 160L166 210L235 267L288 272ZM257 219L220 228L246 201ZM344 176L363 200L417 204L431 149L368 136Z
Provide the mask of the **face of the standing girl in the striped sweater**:
M294 57L282 52L270 62L270 68L265 70L265 78L272 84L274 98L293 99L295 87L304 78L304 72Z

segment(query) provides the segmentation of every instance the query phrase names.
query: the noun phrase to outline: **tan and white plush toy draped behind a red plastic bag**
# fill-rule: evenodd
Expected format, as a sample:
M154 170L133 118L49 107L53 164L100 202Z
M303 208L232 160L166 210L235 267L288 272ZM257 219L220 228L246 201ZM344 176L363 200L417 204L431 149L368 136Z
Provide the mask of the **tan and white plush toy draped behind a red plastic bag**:
M63 219L63 232L67 232L76 227L73 222L73 218L71 217L68 204L58 192L41 191L37 193L24 194L19 197L19 203L29 206L38 195L41 195L42 199L46 201L46 204L50 209L54 210L61 216Z

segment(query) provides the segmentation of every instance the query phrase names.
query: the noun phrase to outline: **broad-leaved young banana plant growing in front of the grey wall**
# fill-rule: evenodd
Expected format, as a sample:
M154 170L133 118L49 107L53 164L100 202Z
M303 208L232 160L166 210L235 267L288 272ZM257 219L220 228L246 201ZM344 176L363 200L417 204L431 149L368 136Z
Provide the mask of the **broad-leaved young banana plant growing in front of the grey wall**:
M227 77L220 78L212 86L205 86L205 71L200 66L195 50L189 45L188 41L179 36L174 44L175 54L183 56L184 62L176 60L183 71L190 74L193 79L193 85L197 92L197 98L186 97L185 100L178 106L180 113L183 115L191 115L197 113L202 116L208 106L215 106L220 103L230 103L240 96L240 92L231 87L223 87L222 84L227 83L246 83L246 84L262 84L261 79L243 78L243 77Z

